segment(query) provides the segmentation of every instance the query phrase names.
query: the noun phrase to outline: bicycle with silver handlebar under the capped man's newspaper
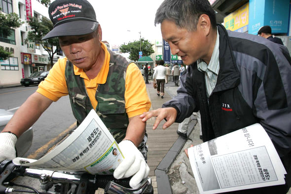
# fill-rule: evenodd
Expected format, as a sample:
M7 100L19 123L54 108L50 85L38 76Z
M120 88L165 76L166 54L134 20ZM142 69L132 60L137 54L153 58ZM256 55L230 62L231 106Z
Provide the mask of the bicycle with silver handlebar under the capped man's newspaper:
M30 186L13 183L17 176L39 179L42 192ZM0 194L12 192L36 194L94 194L98 188L106 194L153 194L151 179L144 179L140 187L130 189L130 178L114 179L112 175L92 175L84 172L64 172L16 166L11 160L0 163ZM29 190L16 189L24 187Z

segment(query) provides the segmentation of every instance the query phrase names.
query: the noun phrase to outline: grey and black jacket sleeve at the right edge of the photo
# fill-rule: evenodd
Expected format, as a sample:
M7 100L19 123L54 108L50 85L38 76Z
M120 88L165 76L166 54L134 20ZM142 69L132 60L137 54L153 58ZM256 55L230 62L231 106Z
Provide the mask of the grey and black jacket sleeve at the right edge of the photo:
M254 110L283 157L291 154L291 64L290 55L278 49L279 44L272 45L264 58L264 76L256 88Z

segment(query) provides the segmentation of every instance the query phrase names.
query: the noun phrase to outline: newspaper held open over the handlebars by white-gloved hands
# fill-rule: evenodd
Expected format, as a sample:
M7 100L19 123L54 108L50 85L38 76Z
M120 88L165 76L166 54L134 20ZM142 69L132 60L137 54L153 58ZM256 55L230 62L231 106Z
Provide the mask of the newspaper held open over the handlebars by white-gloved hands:
M12 162L43 169L108 175L113 174L123 158L115 139L91 110L73 133L48 154L38 160L16 157Z

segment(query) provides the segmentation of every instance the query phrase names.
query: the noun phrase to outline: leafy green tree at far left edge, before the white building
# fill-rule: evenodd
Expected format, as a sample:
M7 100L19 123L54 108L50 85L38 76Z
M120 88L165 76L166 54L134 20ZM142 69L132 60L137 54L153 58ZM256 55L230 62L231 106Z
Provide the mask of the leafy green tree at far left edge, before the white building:
M12 33L11 28L19 28L23 24L16 13L2 14L0 12L0 34L3 37L9 37ZM8 57L13 56L12 52L4 50L0 47L0 58L6 60Z

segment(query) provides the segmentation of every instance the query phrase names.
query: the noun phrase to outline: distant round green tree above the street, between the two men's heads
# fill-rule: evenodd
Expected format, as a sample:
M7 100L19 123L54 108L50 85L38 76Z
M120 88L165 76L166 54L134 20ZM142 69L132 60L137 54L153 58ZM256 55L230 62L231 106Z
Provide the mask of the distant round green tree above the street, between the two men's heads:
M123 43L119 48L123 53L129 53L129 58L133 61L139 60L139 51L143 51L143 56L149 56L154 53L153 44L148 40L140 39L133 42Z

